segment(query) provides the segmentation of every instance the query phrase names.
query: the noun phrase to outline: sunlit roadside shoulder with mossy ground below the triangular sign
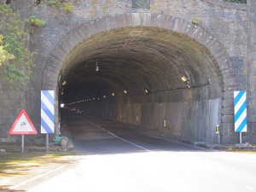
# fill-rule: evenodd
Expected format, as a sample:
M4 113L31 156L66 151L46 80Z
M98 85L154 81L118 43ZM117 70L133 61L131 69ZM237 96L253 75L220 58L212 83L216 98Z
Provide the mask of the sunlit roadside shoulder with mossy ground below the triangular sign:
M4 146L8 148L7 146ZM25 153L0 153L0 191L26 191L76 163L75 152L58 148L26 148Z

